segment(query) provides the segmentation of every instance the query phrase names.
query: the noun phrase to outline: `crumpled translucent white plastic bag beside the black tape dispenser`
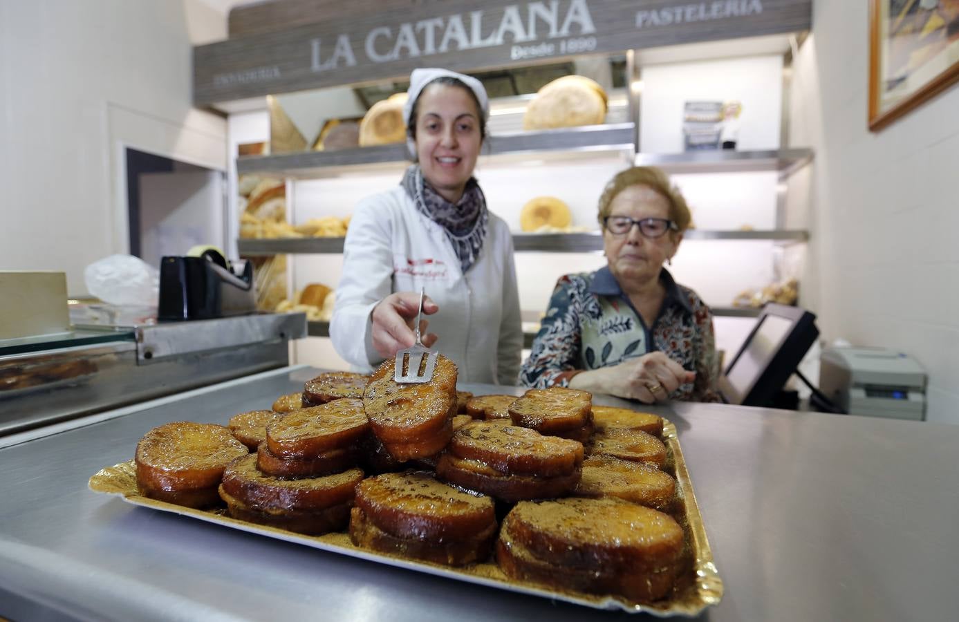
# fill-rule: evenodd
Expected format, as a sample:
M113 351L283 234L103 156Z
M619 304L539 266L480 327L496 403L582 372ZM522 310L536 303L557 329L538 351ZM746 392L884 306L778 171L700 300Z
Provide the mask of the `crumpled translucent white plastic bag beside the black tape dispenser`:
M110 255L87 265L83 280L90 295L109 305L155 307L160 271L132 255Z

